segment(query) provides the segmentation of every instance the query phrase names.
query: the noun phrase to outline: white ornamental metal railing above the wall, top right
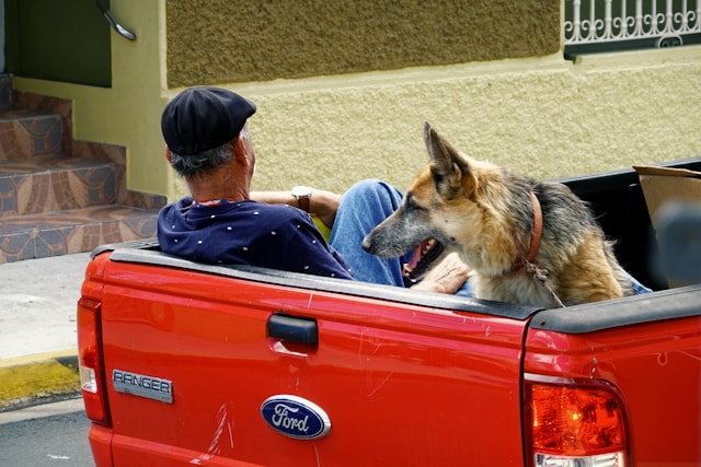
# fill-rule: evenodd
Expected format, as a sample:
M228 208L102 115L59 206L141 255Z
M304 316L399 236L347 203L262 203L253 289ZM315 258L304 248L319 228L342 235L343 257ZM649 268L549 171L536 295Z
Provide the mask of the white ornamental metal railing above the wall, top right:
M701 33L701 0L566 0L565 9L565 45L656 38L659 47Z

